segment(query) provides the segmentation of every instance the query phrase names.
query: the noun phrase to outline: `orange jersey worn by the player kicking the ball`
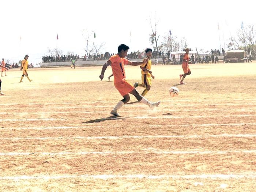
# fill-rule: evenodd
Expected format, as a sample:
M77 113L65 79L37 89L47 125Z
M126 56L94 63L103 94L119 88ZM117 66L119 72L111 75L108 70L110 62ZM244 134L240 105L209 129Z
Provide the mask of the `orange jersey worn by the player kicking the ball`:
M125 80L124 65L128 64L128 60L121 58L118 54L111 56L109 60L111 61L114 82Z

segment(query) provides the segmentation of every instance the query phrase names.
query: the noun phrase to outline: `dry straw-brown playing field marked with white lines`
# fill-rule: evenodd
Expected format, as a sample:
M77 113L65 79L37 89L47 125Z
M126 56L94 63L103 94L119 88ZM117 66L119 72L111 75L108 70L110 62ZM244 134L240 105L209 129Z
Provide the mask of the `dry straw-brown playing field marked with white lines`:
M254 191L256 62L190 67L180 85L181 65L153 65L146 98L161 104L124 105L116 118L111 67L102 81L101 66L30 69L31 83L10 69L0 191ZM125 70L140 81L139 67Z

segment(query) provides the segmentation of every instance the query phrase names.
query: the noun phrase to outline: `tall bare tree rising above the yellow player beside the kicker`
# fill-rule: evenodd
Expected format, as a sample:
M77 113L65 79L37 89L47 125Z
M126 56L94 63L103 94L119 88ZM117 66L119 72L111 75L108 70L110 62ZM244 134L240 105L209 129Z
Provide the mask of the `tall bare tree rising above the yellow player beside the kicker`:
M154 50L157 49L157 52L159 52L163 47L163 43L158 42L160 35L157 34L157 30L156 30L159 19L156 20L156 18L154 18L154 24L152 24L152 20L151 20L151 16L150 16L149 22L150 22L150 27L152 30L152 33L149 35L149 41L151 42L152 45L155 44L155 46L153 46L153 48L154 48Z

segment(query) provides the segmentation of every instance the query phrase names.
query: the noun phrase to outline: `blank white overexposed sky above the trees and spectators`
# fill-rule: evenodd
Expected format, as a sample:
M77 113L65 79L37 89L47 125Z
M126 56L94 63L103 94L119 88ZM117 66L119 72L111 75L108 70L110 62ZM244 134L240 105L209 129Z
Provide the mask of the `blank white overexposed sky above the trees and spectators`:
M255 5L252 0L1 1L0 57L16 63L28 54L29 63L36 64L47 55L48 47L83 56L83 30L95 31L91 45L105 43L102 53L117 53L120 44L142 51L153 47L150 18L153 23L154 18L159 20L159 41L171 30L177 39L185 37L193 50L219 49L220 43L227 46L242 22L256 25Z

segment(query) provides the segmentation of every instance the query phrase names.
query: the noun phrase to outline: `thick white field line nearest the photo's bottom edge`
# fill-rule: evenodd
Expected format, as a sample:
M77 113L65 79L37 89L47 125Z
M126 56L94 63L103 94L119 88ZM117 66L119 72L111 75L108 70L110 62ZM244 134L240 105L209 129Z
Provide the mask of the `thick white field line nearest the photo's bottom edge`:
M135 175L41 175L41 176L2 176L0 180L59 180L65 178L80 178L80 179L113 179L113 178L120 178L120 179L222 179L222 180L229 180L229 179L241 179L241 178L249 178L254 179L256 178L255 174L201 174L201 175L144 175L144 174L135 174Z

